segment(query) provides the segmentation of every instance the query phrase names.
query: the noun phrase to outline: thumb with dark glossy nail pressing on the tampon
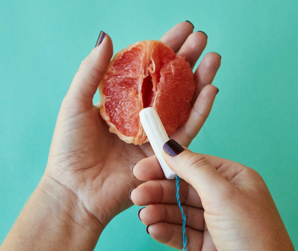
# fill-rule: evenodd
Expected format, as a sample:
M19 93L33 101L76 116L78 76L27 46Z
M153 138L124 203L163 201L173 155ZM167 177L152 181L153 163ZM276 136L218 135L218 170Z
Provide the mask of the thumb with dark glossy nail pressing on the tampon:
M163 150L167 165L195 188L202 202L212 202L230 186L202 154L193 153L173 139L164 143Z

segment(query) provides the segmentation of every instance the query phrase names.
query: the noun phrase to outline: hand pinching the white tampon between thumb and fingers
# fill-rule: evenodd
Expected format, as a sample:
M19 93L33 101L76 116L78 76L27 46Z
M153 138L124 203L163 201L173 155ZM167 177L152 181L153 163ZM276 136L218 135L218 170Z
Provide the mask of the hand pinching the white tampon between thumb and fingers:
M261 176L251 168L218 157L196 154L169 140L163 157L181 177L180 200L186 214L187 250L294 250L291 239ZM184 150L185 149L185 150ZM176 156L175 156L176 155ZM155 156L134 169L150 180L131 192L148 233L182 249L182 217L176 182L162 179ZM157 180L156 180L157 179Z

